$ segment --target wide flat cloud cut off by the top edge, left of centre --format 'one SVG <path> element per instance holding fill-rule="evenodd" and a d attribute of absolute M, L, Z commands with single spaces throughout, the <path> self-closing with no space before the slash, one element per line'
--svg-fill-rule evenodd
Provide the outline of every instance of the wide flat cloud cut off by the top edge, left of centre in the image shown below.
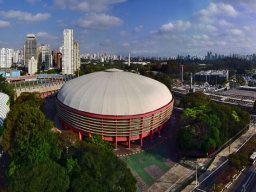
<path fill-rule="evenodd" d="M 116 3 L 126 2 L 127 0 L 54 0 L 53 8 L 64 9 L 69 7 L 78 12 L 102 12 L 106 11 Z"/>

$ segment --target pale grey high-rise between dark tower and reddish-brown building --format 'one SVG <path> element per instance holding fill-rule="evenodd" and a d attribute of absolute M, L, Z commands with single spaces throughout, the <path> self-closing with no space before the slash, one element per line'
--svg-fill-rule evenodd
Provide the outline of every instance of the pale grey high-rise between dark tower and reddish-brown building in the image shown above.
<path fill-rule="evenodd" d="M 41 45 L 38 50 L 39 52 L 39 65 L 44 68 L 44 70 L 48 70 L 51 67 L 51 52 L 50 45 Z"/>

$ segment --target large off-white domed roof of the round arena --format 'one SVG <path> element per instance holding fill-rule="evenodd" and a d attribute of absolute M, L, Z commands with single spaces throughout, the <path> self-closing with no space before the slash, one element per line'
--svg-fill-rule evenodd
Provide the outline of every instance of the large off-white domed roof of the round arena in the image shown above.
<path fill-rule="evenodd" d="M 152 112 L 172 100 L 162 83 L 142 75 L 109 69 L 80 76 L 64 84 L 58 100 L 76 110 L 130 116 Z"/>

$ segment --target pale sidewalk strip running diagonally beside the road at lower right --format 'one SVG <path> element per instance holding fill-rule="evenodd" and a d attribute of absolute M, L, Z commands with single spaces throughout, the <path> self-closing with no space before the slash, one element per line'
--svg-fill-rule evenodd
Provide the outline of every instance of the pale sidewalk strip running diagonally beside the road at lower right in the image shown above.
<path fill-rule="evenodd" d="M 254 129 L 254 127 L 251 127 L 246 134 L 243 134 L 240 138 L 238 138 L 235 142 L 233 142 L 230 146 L 230 153 L 234 153 L 236 152 L 240 146 L 242 146 L 242 144 L 244 144 L 245 140 L 246 140 L 246 136 L 247 138 L 252 136 L 253 134 L 255 134 L 256 129 Z M 220 153 L 218 153 L 214 159 L 214 161 L 212 162 L 212 164 L 210 165 L 210 167 L 206 170 L 206 172 L 204 174 L 202 174 L 199 178 L 198 178 L 198 183 L 200 183 L 202 180 L 204 180 L 204 178 L 206 178 L 209 174 L 211 174 L 211 172 L 213 172 L 214 170 L 216 170 L 216 168 L 218 166 L 220 166 L 224 161 L 226 161 L 228 159 L 228 155 L 229 155 L 229 147 L 225 148 L 224 150 L 222 150 Z M 190 185 L 188 185 L 184 190 L 182 190 L 182 192 L 190 192 L 193 190 L 193 188 L 196 186 L 196 181 L 193 181 Z"/>

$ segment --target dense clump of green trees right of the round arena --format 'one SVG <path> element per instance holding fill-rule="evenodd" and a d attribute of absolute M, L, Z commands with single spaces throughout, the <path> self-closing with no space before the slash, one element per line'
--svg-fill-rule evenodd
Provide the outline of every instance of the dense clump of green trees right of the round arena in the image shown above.
<path fill-rule="evenodd" d="M 178 146 L 183 150 L 208 152 L 220 147 L 235 136 L 249 122 L 250 115 L 240 108 L 218 105 L 195 92 L 182 99 L 182 112 Z"/>

